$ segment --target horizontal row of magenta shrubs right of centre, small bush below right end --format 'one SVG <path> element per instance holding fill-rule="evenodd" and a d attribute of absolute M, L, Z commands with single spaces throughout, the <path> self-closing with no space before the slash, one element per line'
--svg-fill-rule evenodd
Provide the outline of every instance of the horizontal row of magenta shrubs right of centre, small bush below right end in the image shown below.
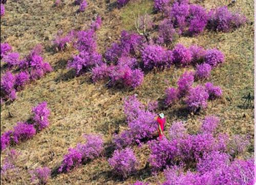
<path fill-rule="evenodd" d="M 159 45 L 147 45 L 142 50 L 141 58 L 143 67 L 147 70 L 154 67 L 168 68 L 173 64 L 197 65 L 197 77 L 200 79 L 207 78 L 211 68 L 217 67 L 225 60 L 222 52 L 216 48 L 205 50 L 197 45 L 186 48 L 182 44 L 177 44 L 173 50 L 166 50 Z"/>

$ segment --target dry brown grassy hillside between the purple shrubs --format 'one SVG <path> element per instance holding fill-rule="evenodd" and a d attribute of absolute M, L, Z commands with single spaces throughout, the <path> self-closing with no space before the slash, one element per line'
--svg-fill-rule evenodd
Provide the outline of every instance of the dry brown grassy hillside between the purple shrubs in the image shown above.
<path fill-rule="evenodd" d="M 67 3 L 61 7 L 53 7 L 53 1 L 14 1 L 10 0 L 6 6 L 6 15 L 1 18 L 1 42 L 7 41 L 14 50 L 25 55 L 37 43 L 45 47 L 44 58 L 53 66 L 54 71 L 47 74 L 18 92 L 18 99 L 1 108 L 1 133 L 11 129 L 17 121 L 25 121 L 31 115 L 31 107 L 38 102 L 47 101 L 52 113 L 51 125 L 37 134 L 33 139 L 14 148 L 23 154 L 19 157 L 20 173 L 29 184 L 28 169 L 37 166 L 57 167 L 69 147 L 82 141 L 83 133 L 100 133 L 105 143 L 109 143 L 116 128 L 125 129 L 122 112 L 122 98 L 134 93 L 142 102 L 161 99 L 167 85 L 175 85 L 178 76 L 187 69 L 172 68 L 163 72 L 153 71 L 144 78 L 141 87 L 134 91 L 113 90 L 103 84 L 92 84 L 89 75 L 74 77 L 66 69 L 67 60 L 75 50 L 55 53 L 51 49 L 51 39 L 59 29 L 68 32 L 71 29 L 87 28 L 92 17 L 98 13 L 103 17 L 103 26 L 97 31 L 99 51 L 115 41 L 122 29 L 133 30 L 132 12 L 144 13 L 152 11 L 152 1 L 138 1 L 135 5 L 129 3 L 118 10 L 111 8 L 105 1 L 88 0 L 89 8 L 76 14 L 78 6 Z M 72 1 L 71 1 L 72 2 Z M 113 5 L 114 1 L 110 4 Z M 220 5 L 227 5 L 227 1 L 198 1 L 207 9 Z M 197 3 L 198 3 L 197 2 Z M 181 37 L 178 42 L 185 45 L 199 44 L 205 48 L 217 47 L 221 49 L 226 62 L 212 71 L 211 82 L 223 89 L 223 98 L 211 101 L 208 109 L 199 115 L 185 114 L 182 107 L 176 105 L 164 112 L 167 116 L 167 128 L 176 120 L 185 122 L 190 133 L 195 133 L 199 126 L 199 119 L 207 114 L 215 114 L 221 118 L 219 131 L 232 134 L 249 134 L 253 137 L 253 110 L 242 109 L 243 96 L 253 94 L 253 1 L 238 1 L 232 10 L 240 8 L 248 18 L 248 24 L 232 33 L 205 32 L 196 38 Z M 154 15 L 159 17 L 159 15 Z M 8 116 L 11 112 L 13 117 Z M 126 179 L 118 180 L 112 176 L 106 157 L 100 157 L 87 165 L 83 165 L 69 174 L 60 174 L 50 179 L 49 184 L 129 184 L 136 179 L 156 184 L 163 181 L 163 173 L 153 176 L 147 169 L 143 169 L 149 154 L 148 148 L 134 147 L 141 163 L 139 171 Z M 248 151 L 240 157 L 252 155 L 253 139 Z M 5 152 L 1 156 L 1 160 Z M 3 184 L 23 184 L 18 177 Z"/>

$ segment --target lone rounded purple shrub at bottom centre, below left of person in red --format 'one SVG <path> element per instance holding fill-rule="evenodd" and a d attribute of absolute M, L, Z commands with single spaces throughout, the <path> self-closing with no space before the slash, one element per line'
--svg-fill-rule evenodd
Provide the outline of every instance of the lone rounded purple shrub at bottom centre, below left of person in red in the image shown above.
<path fill-rule="evenodd" d="M 137 158 L 131 148 L 115 150 L 108 162 L 113 172 L 124 178 L 132 174 L 138 166 Z"/>

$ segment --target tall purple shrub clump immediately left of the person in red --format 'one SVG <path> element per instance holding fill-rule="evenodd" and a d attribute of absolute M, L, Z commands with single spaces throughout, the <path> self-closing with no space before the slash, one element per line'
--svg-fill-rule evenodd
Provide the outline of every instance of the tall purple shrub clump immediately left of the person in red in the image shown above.
<path fill-rule="evenodd" d="M 157 130 L 157 122 L 154 120 L 156 113 L 145 108 L 135 95 L 129 96 L 124 101 L 124 114 L 128 123 L 128 129 L 119 135 L 114 135 L 113 142 L 120 149 L 132 144 L 140 144 L 142 140 L 150 139 Z M 156 105 L 154 105 L 156 107 Z"/>

